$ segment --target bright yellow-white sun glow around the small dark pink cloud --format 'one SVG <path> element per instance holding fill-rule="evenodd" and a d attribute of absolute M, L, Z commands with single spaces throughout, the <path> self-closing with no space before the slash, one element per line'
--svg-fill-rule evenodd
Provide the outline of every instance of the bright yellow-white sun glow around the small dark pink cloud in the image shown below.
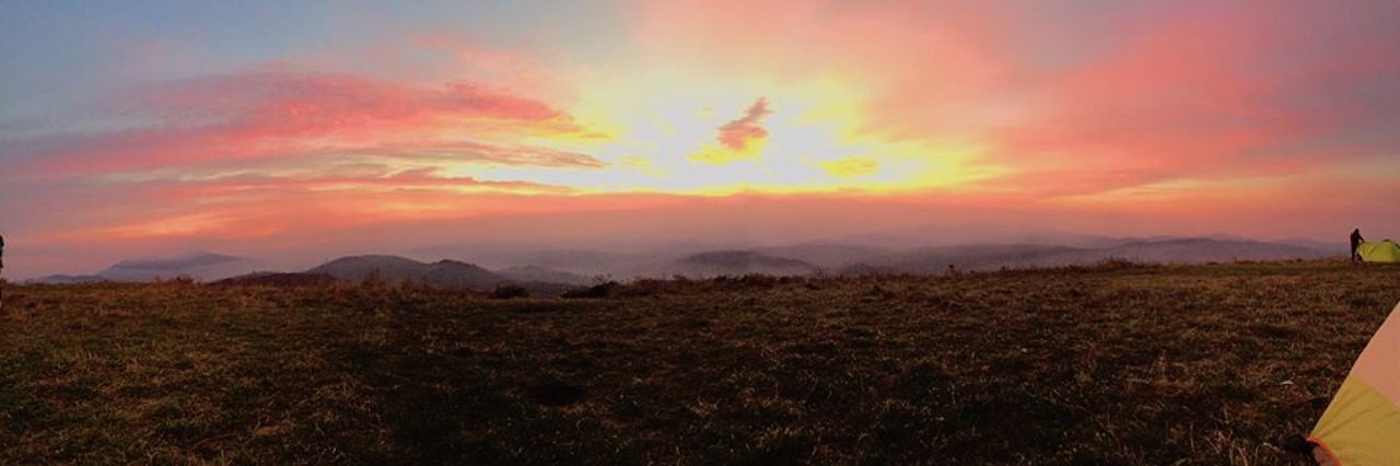
<path fill-rule="evenodd" d="M 528 172 L 580 193 L 728 195 L 918 192 L 1001 172 L 974 164 L 977 143 L 868 130 L 869 97 L 837 77 L 652 76 L 627 85 L 585 84 L 570 113 L 606 137 L 560 148 L 595 154 L 609 169 L 503 167 L 458 175 L 512 179 Z"/>

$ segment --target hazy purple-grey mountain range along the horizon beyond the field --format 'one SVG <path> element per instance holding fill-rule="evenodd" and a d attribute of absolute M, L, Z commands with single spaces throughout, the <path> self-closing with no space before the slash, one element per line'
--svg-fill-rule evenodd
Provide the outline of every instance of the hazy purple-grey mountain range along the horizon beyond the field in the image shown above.
<path fill-rule="evenodd" d="M 514 255 L 482 255 L 494 270 L 477 263 L 442 259 L 419 262 L 392 255 L 339 257 L 302 273 L 269 273 L 260 260 L 193 252 L 175 257 L 123 260 L 88 276 L 56 274 L 31 283 L 151 281 L 192 277 L 200 281 L 251 284 L 309 284 L 328 280 L 414 283 L 440 288 L 490 290 L 519 284 L 536 292 L 560 292 L 589 285 L 601 278 L 714 277 L 714 276 L 806 276 L 860 273 L 942 273 L 1092 264 L 1106 259 L 1144 263 L 1201 263 L 1235 260 L 1281 260 L 1340 256 L 1330 245 L 1260 242 L 1240 238 L 1089 238 L 1075 245 L 973 243 L 914 249 L 892 249 L 854 243 L 802 243 L 713 250 L 522 250 Z"/>

